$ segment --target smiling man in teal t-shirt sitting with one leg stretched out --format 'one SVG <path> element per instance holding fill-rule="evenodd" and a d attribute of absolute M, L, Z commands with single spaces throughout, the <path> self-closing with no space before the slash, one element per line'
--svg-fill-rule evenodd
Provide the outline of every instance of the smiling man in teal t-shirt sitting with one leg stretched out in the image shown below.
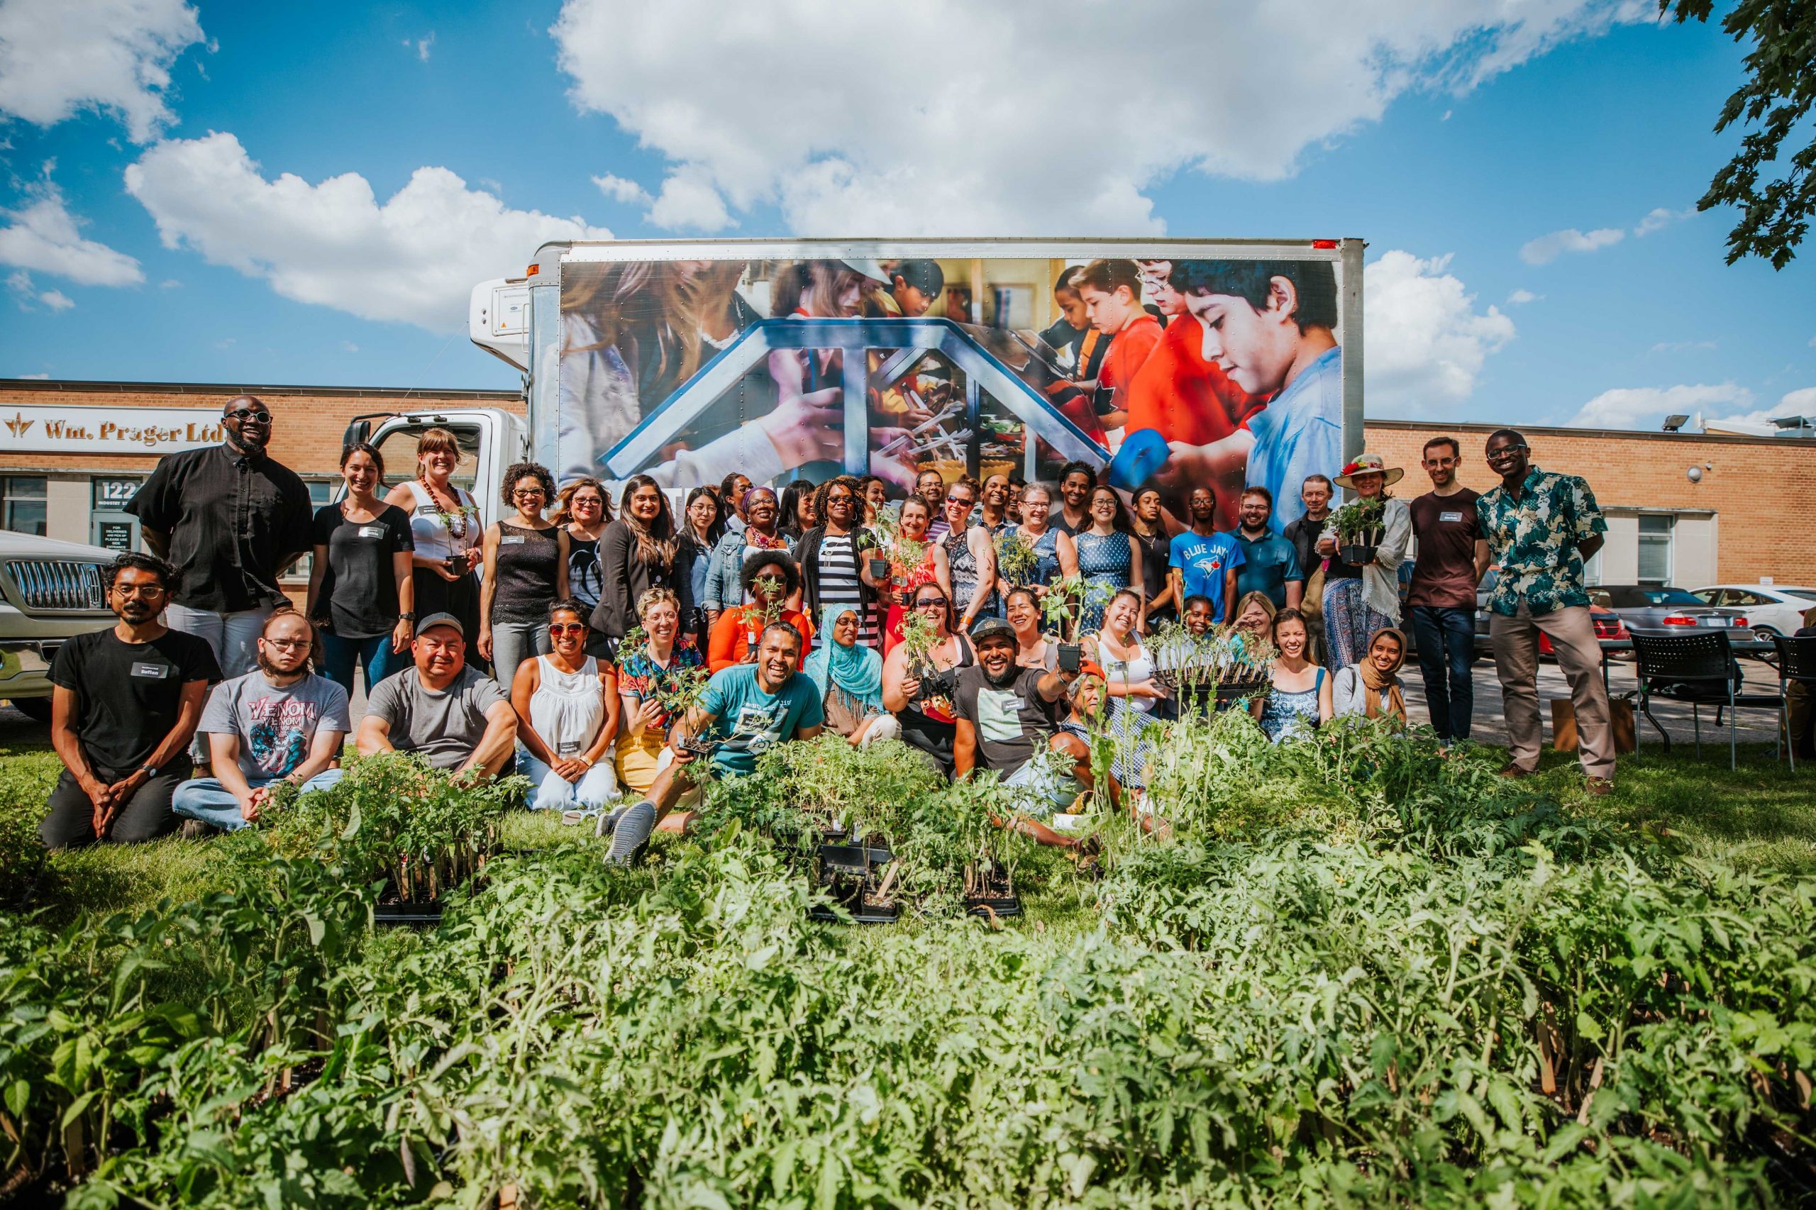
<path fill-rule="evenodd" d="M 699 705 L 676 723 L 668 736 L 670 761 L 656 774 L 650 794 L 641 803 L 599 819 L 599 834 L 612 834 L 607 861 L 630 865 L 656 821 L 692 790 L 701 774 L 690 741 L 714 745 L 712 774 L 746 778 L 757 770 L 757 756 L 786 739 L 812 739 L 821 732 L 824 709 L 819 690 L 801 667 L 801 632 L 786 621 L 774 621 L 757 641 L 757 661 L 721 669 L 706 681 Z M 690 812 L 663 819 L 663 828 L 681 830 Z"/>

